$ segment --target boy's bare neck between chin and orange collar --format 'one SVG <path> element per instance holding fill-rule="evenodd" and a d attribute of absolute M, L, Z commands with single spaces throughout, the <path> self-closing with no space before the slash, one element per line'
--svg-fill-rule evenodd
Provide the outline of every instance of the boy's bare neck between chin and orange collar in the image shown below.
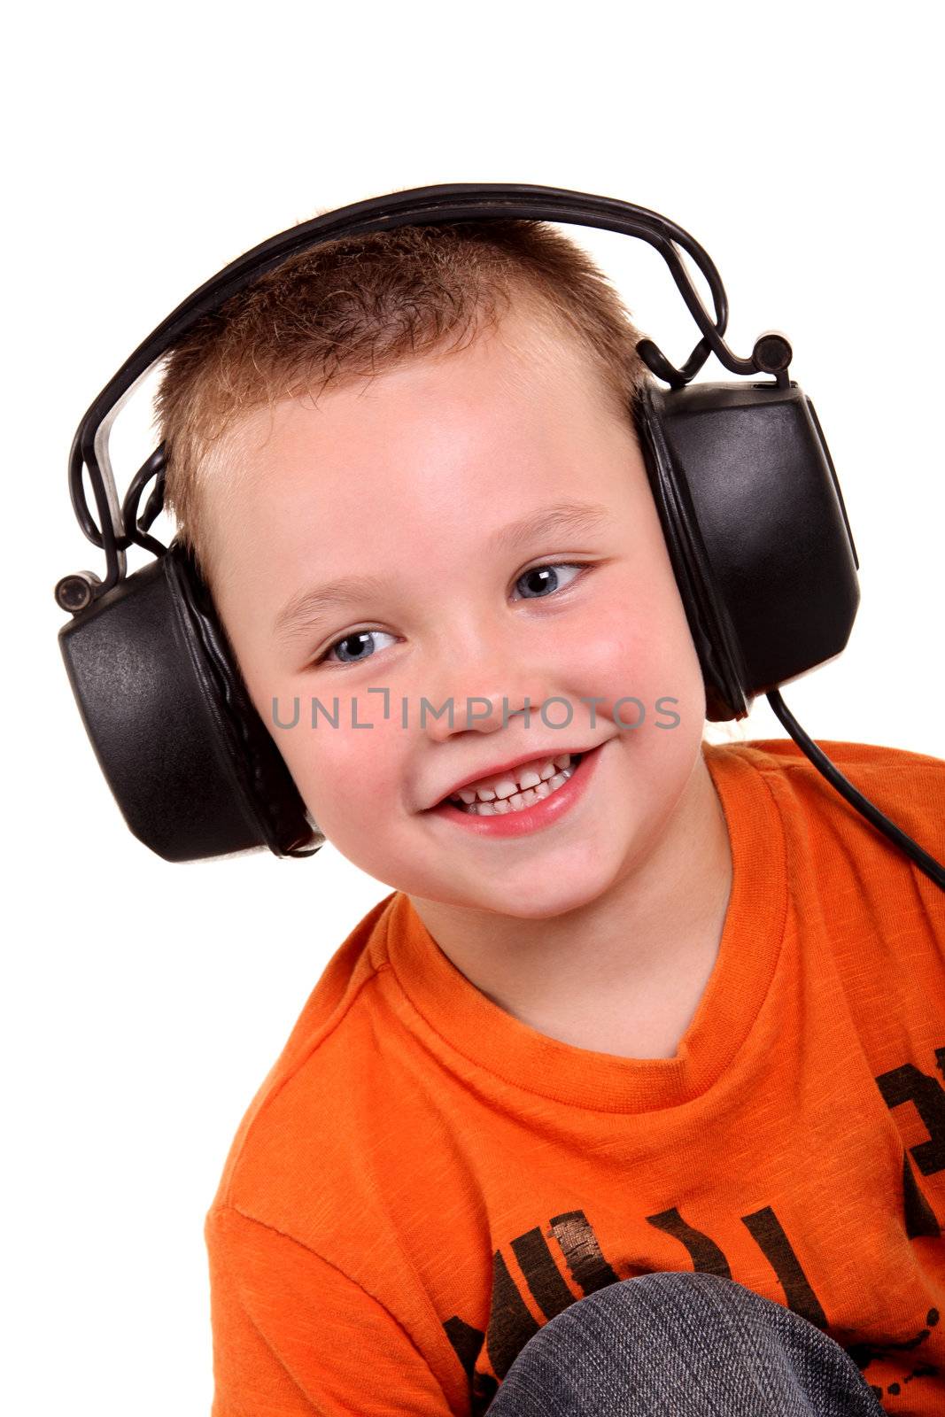
<path fill-rule="evenodd" d="M 598 1053 L 673 1057 L 718 955 L 731 873 L 700 752 L 659 839 L 587 905 L 519 920 L 411 903 L 460 973 L 530 1027 Z"/>

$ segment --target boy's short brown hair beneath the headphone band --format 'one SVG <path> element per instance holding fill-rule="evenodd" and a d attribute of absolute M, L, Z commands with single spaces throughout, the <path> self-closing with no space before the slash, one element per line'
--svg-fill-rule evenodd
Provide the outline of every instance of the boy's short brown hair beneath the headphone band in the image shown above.
<path fill-rule="evenodd" d="M 289 256 L 203 316 L 167 354 L 156 397 L 164 503 L 213 585 L 214 482 L 232 487 L 224 434 L 282 398 L 341 387 L 429 354 L 468 347 L 524 302 L 553 337 L 577 339 L 602 393 L 632 425 L 649 373 L 639 332 L 588 254 L 541 221 L 405 225 L 343 237 Z"/>

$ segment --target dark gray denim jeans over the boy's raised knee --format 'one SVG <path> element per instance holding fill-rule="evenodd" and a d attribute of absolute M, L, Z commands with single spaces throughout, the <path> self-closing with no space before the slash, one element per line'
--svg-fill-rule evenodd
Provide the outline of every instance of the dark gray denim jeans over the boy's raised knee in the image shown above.
<path fill-rule="evenodd" d="M 703 1271 L 588 1294 L 517 1355 L 489 1417 L 881 1417 L 839 1343 Z"/>

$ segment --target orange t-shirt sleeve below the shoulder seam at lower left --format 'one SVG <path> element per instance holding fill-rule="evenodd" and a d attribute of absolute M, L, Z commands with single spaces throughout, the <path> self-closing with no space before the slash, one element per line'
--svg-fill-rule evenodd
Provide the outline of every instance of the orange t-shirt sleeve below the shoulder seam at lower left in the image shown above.
<path fill-rule="evenodd" d="M 205 1237 L 211 1417 L 451 1417 L 402 1326 L 334 1265 L 230 1206 Z"/>

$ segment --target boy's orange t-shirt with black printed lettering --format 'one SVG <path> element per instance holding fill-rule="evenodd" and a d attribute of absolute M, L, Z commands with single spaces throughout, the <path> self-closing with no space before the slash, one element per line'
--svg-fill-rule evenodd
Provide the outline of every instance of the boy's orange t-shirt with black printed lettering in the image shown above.
<path fill-rule="evenodd" d="M 944 761 L 823 747 L 945 859 Z M 674 1057 L 520 1023 L 401 891 L 332 958 L 207 1216 L 214 1417 L 472 1417 L 548 1318 L 656 1270 L 945 1413 L 945 894 L 791 740 L 703 752 L 732 894 Z"/>

